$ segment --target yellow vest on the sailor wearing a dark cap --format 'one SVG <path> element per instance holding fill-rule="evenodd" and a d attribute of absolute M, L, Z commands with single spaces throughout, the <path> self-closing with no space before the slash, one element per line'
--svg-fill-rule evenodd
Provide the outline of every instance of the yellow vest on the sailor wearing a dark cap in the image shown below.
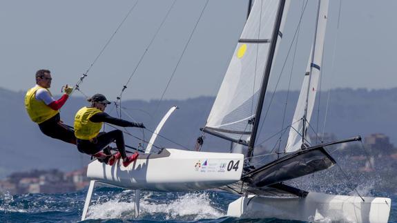
<path fill-rule="evenodd" d="M 97 137 L 103 122 L 91 122 L 90 117 L 102 111 L 98 108 L 81 108 L 75 115 L 75 136 L 77 139 L 93 139 Z"/>

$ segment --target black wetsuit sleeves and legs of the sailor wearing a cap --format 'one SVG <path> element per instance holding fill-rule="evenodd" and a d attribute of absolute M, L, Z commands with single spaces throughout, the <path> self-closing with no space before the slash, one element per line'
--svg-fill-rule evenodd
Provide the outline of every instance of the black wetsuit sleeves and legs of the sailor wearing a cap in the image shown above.
<path fill-rule="evenodd" d="M 109 124 L 114 124 L 116 126 L 122 127 L 140 127 L 139 124 L 135 122 L 128 122 L 123 119 L 117 119 L 111 117 L 107 113 L 97 113 L 90 117 L 91 122 L 106 122 Z M 89 155 L 94 155 L 102 151 L 108 144 L 116 141 L 117 148 L 122 154 L 122 157 L 127 157 L 126 148 L 124 145 L 124 136 L 121 130 L 112 130 L 108 133 L 99 133 L 94 139 L 77 139 L 77 148 L 81 153 L 86 153 Z M 108 152 L 108 151 L 104 151 Z"/>

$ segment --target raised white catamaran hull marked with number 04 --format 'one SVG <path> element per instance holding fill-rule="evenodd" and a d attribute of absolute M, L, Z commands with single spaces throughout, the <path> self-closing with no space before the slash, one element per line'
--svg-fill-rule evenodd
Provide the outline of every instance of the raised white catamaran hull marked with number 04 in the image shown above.
<path fill-rule="evenodd" d="M 164 149 L 142 154 L 127 167 L 97 160 L 88 165 L 87 177 L 105 184 L 149 191 L 201 191 L 240 180 L 244 155 Z"/>

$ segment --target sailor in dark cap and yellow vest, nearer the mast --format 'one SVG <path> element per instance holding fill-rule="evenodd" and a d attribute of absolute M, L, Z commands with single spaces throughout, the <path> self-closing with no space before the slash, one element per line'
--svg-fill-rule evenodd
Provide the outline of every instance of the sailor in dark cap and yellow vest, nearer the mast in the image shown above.
<path fill-rule="evenodd" d="M 99 162 L 105 162 L 110 166 L 120 157 L 122 157 L 123 166 L 125 167 L 134 162 L 139 154 L 136 152 L 127 157 L 124 136 L 121 130 L 112 130 L 108 133 L 99 133 L 99 131 L 104 122 L 116 126 L 137 128 L 145 128 L 144 124 L 128 122 L 104 113 L 106 106 L 110 104 L 110 101 L 104 95 L 93 95 L 88 101 L 91 106 L 81 108 L 75 115 L 75 136 L 79 151 L 97 157 Z M 111 155 L 109 148 L 106 146 L 114 141 L 119 152 Z"/>

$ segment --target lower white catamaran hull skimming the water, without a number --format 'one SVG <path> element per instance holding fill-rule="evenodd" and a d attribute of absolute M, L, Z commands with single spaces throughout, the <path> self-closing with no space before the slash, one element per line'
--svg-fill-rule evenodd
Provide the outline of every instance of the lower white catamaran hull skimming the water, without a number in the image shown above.
<path fill-rule="evenodd" d="M 233 217 L 282 220 L 331 220 L 343 222 L 387 222 L 391 200 L 385 197 L 360 197 L 308 193 L 306 197 L 266 197 L 249 195 L 229 204 Z"/>

